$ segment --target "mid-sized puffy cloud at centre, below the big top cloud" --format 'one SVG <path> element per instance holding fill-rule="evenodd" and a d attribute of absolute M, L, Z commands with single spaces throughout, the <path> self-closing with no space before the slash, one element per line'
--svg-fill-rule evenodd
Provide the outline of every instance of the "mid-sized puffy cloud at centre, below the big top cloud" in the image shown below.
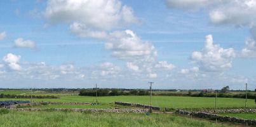
<path fill-rule="evenodd" d="M 112 50 L 112 56 L 121 60 L 154 61 L 157 52 L 151 43 L 143 42 L 133 31 L 115 31 L 107 37 L 105 50 Z"/>

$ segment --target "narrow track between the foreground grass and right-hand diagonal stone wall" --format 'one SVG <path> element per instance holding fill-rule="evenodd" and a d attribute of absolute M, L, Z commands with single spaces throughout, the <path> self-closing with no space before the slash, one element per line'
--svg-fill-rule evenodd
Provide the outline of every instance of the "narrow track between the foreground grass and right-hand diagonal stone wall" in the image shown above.
<path fill-rule="evenodd" d="M 156 113 L 156 114 L 163 114 L 164 112 L 153 112 L 153 113 Z M 187 117 L 187 118 L 191 118 L 191 119 L 197 119 L 197 120 L 201 120 L 201 121 L 208 121 L 208 122 L 211 122 L 211 123 L 215 123 L 215 121 L 212 121 L 210 119 L 203 119 L 201 117 L 193 117 L 193 116 L 185 116 L 185 115 L 178 115 L 178 114 L 174 114 L 173 112 L 165 112 L 165 114 L 173 114 L 173 115 L 177 115 L 177 116 L 180 116 L 180 117 Z M 217 121 L 217 123 L 220 123 L 220 124 L 227 124 L 227 125 L 232 125 L 232 126 L 245 126 L 243 124 L 236 124 L 236 123 L 229 123 L 229 122 L 222 122 L 222 121 Z"/>

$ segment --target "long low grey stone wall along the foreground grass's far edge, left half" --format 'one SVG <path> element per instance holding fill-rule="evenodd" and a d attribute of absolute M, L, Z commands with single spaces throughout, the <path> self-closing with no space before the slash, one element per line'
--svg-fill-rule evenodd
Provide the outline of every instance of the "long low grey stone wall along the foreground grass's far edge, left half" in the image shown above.
<path fill-rule="evenodd" d="M 31 111 L 30 108 L 20 108 L 16 109 L 18 111 Z M 91 112 L 117 112 L 117 113 L 124 113 L 124 112 L 135 112 L 135 113 L 145 113 L 149 112 L 149 109 L 62 109 L 62 108 L 55 108 L 55 109 L 33 109 L 33 111 L 48 111 L 48 110 L 65 110 L 65 111 L 72 111 L 72 112 L 83 112 L 83 111 L 91 111 Z"/>

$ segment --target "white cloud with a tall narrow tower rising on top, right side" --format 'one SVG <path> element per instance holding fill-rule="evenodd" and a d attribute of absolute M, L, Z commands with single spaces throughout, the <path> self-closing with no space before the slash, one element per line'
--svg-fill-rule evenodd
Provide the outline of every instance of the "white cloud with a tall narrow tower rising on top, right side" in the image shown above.
<path fill-rule="evenodd" d="M 212 35 L 208 35 L 201 51 L 194 51 L 191 60 L 199 65 L 200 70 L 222 71 L 232 67 L 235 55 L 234 49 L 224 49 L 219 44 L 213 44 Z"/>

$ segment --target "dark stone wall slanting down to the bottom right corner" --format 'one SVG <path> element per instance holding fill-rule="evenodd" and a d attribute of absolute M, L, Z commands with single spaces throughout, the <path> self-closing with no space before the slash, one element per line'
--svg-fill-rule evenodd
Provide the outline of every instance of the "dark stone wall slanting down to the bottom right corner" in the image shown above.
<path fill-rule="evenodd" d="M 229 109 L 231 110 L 231 109 Z M 238 111 L 238 110 L 235 110 Z M 226 121 L 231 123 L 241 123 L 241 124 L 248 124 L 252 126 L 256 126 L 256 119 L 241 119 L 238 117 L 230 117 L 230 116 L 219 116 L 217 114 L 210 114 L 206 112 L 195 112 L 195 111 L 187 111 L 187 110 L 176 110 L 178 114 L 182 115 L 189 115 L 189 116 L 195 116 L 195 117 L 205 117 L 212 120 L 219 120 L 219 121 Z"/>

